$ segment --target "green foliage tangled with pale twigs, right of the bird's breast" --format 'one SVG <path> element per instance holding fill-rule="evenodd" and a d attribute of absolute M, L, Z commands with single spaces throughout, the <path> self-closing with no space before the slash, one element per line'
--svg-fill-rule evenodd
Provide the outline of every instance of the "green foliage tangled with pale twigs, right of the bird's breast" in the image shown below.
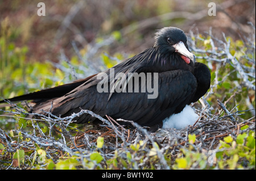
<path fill-rule="evenodd" d="M 208 65 L 211 71 L 211 85 L 214 94 L 210 94 L 207 99 L 210 106 L 216 108 L 216 100 L 220 99 L 222 102 L 228 101 L 226 104 L 228 110 L 233 110 L 234 107 L 237 107 L 235 109 L 236 111 L 249 110 L 251 107 L 255 108 L 255 91 L 245 85 L 240 72 L 236 71 L 234 65 L 230 63 L 231 60 L 226 58 L 225 47 L 223 47 L 223 45 L 218 45 L 217 47 L 216 44 L 218 42 L 215 44 L 216 47 L 213 47 L 212 43 L 210 43 L 213 39 L 211 39 L 210 36 L 199 36 L 200 38 L 197 38 L 197 40 L 196 37 L 192 37 L 192 40 L 196 40 L 197 48 L 201 48 L 205 50 L 205 52 L 208 51 L 208 53 L 195 54 L 199 57 L 207 57 L 197 58 L 197 61 Z M 248 76 L 247 81 L 253 82 L 255 86 L 255 77 L 253 75 L 255 72 L 253 73 L 253 71 L 251 71 L 255 69 L 255 63 L 253 63 L 253 61 L 255 62 L 255 43 L 250 45 L 242 40 L 233 41 L 230 37 L 226 37 L 224 41 L 230 41 L 229 52 L 245 69 L 245 74 L 251 74 Z M 212 56 L 212 52 L 218 53 L 218 57 Z M 212 57 L 216 57 L 217 60 L 225 61 L 221 63 L 209 61 Z M 250 108 L 249 105 L 251 105 Z M 241 115 L 242 119 L 250 119 L 252 116 L 253 114 L 250 111 L 245 111 Z"/>

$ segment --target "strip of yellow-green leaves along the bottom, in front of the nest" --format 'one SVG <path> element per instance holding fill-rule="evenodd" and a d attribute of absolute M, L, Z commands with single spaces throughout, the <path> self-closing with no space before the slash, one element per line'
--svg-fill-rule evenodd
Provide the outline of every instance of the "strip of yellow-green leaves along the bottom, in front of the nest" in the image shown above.
<path fill-rule="evenodd" d="M 243 128 L 243 127 L 242 127 Z M 188 134 L 188 146 L 179 148 L 175 159 L 171 158 L 171 149 L 165 151 L 163 157 L 171 169 L 255 169 L 255 132 L 243 128 L 243 133 L 226 136 L 218 141 L 217 148 L 205 150 L 200 148 L 195 134 Z M 20 133 L 10 132 L 16 142 L 23 142 Z M 31 141 L 31 140 L 26 140 Z M 7 153 L 7 145 L 0 144 L 0 153 L 5 159 L 16 161 L 16 166 L 22 168 L 29 165 L 30 169 L 157 169 L 160 151 L 158 144 L 138 140 L 131 145 L 123 145 L 122 149 L 115 150 L 114 156 L 106 158 L 102 155 L 104 138 L 97 138 L 97 146 L 92 153 L 83 156 L 65 154 L 57 160 L 53 153 L 48 157 L 47 147 L 35 144 L 36 151 L 17 149 L 14 153 Z M 125 151 L 123 151 L 125 150 Z M 56 154 L 58 154 L 56 152 Z M 11 156 L 11 157 L 10 157 Z M 10 158 L 8 158 L 10 157 Z M 139 165 L 143 165 L 140 167 Z"/>

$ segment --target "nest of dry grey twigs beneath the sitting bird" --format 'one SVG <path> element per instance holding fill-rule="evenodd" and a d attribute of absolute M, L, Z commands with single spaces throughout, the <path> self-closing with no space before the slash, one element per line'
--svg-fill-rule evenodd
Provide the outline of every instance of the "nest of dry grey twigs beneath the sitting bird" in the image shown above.
<path fill-rule="evenodd" d="M 137 152 L 137 157 L 131 162 L 136 164 L 131 164 L 128 168 L 149 169 L 150 165 L 152 167 L 153 164 L 155 169 L 171 169 L 164 155 L 169 155 L 170 162 L 175 162 L 177 155 L 181 153 L 181 148 L 193 145 L 199 152 L 209 151 L 217 149 L 219 141 L 225 136 L 236 137 L 242 132 L 255 130 L 255 117 L 241 121 L 240 112 L 230 113 L 220 101 L 218 101 L 218 105 L 220 110 L 214 115 L 208 113 L 208 108 L 196 109 L 194 105 L 196 112 L 199 114 L 199 119 L 194 125 L 180 130 L 159 129 L 155 133 L 149 133 L 147 128 L 142 128 L 133 121 L 129 121 L 132 128 L 125 127 L 119 123 L 123 123 L 126 120 L 113 120 L 109 116 L 107 116 L 108 120 L 106 120 L 87 110 L 81 110 L 79 113 L 74 113 L 72 116 L 64 118 L 42 116 L 42 120 L 31 121 L 32 128 L 20 128 L 20 130 L 14 131 L 13 137 L 10 137 L 9 134 L 0 129 L 0 142 L 6 146 L 5 154 L 0 155 L 1 162 L 5 163 L 5 165 L 9 163 L 8 169 L 15 169 L 14 166 L 16 165 L 14 160 L 11 159 L 10 153 L 14 153 L 17 149 L 23 149 L 25 152 L 36 152 L 37 146 L 39 146 L 46 151 L 46 158 L 55 163 L 67 155 L 76 155 L 80 158 L 80 167 L 85 169 L 86 164 L 82 163 L 84 162 L 83 160 L 89 159 L 90 154 L 95 151 L 102 155 L 104 161 L 108 161 L 117 157 L 117 154 L 118 157 L 127 159 L 127 153 L 134 150 Z M 17 107 L 16 112 L 9 113 L 15 113 L 16 115 L 18 113 L 26 114 Z M 70 124 L 73 117 L 82 113 L 89 113 L 97 117 L 103 124 L 84 124 L 79 128 L 72 127 Z M 49 131 L 45 133 L 39 123 L 47 125 Z M 249 128 L 241 131 L 240 128 L 245 125 L 248 125 Z M 56 139 L 57 134 L 60 134 L 61 138 Z M 196 136 L 193 144 L 189 142 L 189 134 L 195 134 Z M 22 138 L 14 139 L 15 135 Z M 98 137 L 104 138 L 102 148 L 97 146 Z M 138 144 L 139 147 L 137 149 L 136 145 L 138 146 Z M 133 146 L 135 146 L 134 149 Z M 150 160 L 152 155 L 155 156 L 154 162 Z M 32 160 L 33 157 L 34 154 L 32 153 L 30 157 L 26 156 L 26 159 Z M 139 159 L 143 159 L 143 161 L 138 164 Z M 94 165 L 94 167 L 98 166 L 101 169 L 106 169 L 106 162 L 104 161 Z M 5 165 L 2 165 L 1 169 L 7 169 Z M 31 168 L 30 165 L 23 165 L 23 169 L 29 168 Z M 122 168 L 114 167 L 114 169 Z"/>

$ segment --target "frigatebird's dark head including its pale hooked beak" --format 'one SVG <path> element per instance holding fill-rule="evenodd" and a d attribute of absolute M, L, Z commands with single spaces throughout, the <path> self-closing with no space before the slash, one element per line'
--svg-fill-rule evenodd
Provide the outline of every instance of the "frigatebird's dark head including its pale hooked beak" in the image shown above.
<path fill-rule="evenodd" d="M 179 54 L 179 56 L 190 64 L 195 64 L 195 56 L 188 49 L 187 37 L 185 33 L 176 27 L 165 27 L 156 32 L 155 45 L 161 54 Z"/>

